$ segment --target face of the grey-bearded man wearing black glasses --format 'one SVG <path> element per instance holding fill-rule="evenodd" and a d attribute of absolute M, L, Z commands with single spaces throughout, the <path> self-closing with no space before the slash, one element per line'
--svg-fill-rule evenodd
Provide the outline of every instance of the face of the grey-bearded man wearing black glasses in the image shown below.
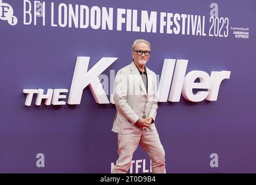
<path fill-rule="evenodd" d="M 148 62 L 150 55 L 145 56 L 145 54 L 142 53 L 142 55 L 139 56 L 136 53 L 136 51 L 150 51 L 149 46 L 144 42 L 139 42 L 139 43 L 137 43 L 137 45 L 135 46 L 134 51 L 133 51 L 133 60 L 134 60 L 135 64 L 145 65 Z"/>

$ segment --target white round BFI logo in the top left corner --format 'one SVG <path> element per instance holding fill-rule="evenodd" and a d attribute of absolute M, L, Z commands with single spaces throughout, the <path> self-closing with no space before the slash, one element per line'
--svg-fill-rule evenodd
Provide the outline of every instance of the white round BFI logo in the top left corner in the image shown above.
<path fill-rule="evenodd" d="M 3 3 L 0 0 L 0 19 L 8 21 L 10 25 L 16 25 L 18 23 L 17 17 L 13 16 L 13 8 L 8 3 Z"/>

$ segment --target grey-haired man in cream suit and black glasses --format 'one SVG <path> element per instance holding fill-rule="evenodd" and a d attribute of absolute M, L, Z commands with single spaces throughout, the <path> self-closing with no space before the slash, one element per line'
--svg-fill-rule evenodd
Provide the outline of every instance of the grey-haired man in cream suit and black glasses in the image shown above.
<path fill-rule="evenodd" d="M 150 52 L 147 40 L 135 40 L 131 47 L 133 61 L 116 73 L 112 131 L 118 133 L 119 158 L 112 173 L 127 173 L 139 144 L 152 160 L 152 172 L 166 173 L 165 153 L 155 127 L 156 75 L 145 66 Z"/>

